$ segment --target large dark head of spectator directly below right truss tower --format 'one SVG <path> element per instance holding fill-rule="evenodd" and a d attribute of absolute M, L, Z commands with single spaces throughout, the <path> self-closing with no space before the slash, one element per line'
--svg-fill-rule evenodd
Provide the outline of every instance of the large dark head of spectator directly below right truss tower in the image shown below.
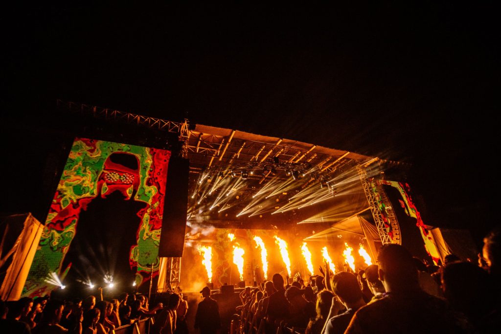
<path fill-rule="evenodd" d="M 390 243 L 378 254 L 379 278 L 385 290 L 419 289 L 417 269 L 410 252 L 403 246 Z"/>

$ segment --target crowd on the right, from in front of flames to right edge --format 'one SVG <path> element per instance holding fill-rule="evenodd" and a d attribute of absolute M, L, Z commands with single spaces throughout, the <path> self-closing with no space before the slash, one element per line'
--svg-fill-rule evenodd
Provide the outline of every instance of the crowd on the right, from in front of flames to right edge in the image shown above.
<path fill-rule="evenodd" d="M 384 245 L 377 265 L 323 275 L 305 284 L 279 273 L 240 293 L 240 334 L 491 333 L 500 324 L 499 238 L 483 240 L 478 262 L 448 254 L 441 265 L 425 262 L 403 246 Z M 230 333 L 233 334 L 233 333 Z"/>

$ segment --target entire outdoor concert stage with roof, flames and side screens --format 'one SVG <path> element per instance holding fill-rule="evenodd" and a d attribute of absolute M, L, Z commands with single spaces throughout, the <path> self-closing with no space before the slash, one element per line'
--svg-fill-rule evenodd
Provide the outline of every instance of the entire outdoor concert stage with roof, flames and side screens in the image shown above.
<path fill-rule="evenodd" d="M 26 282 L 4 281 L 4 296 L 63 286 L 82 295 L 97 286 L 110 295 L 199 291 L 275 272 L 307 280 L 328 258 L 337 270 L 363 269 L 389 242 L 435 263 L 448 251 L 420 215 L 405 164 L 74 103 L 59 109 L 85 136 L 61 146 L 33 260 L 9 269 Z"/>

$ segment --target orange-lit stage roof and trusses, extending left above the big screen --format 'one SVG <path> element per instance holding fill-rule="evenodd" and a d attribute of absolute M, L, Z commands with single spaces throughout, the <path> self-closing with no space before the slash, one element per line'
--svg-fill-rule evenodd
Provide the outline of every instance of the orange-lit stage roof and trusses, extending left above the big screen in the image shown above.
<path fill-rule="evenodd" d="M 231 209 L 234 220 L 234 213 L 245 211 L 245 208 L 255 201 L 254 196 L 257 194 L 263 198 L 262 203 L 255 206 L 263 206 L 263 209 L 260 211 L 254 208 L 248 217 L 261 212 L 289 212 L 294 215 L 295 210 L 280 210 L 287 207 L 288 202 L 298 198 L 300 201 L 310 201 L 310 205 L 313 205 L 329 197 L 327 191 L 330 191 L 332 196 L 336 196 L 338 191 L 343 193 L 343 187 L 345 192 L 353 191 L 353 182 L 359 183 L 360 193 L 368 191 L 368 188 L 362 190 L 364 182 L 360 184 L 357 169 L 367 169 L 369 166 L 372 168 L 376 162 L 384 162 L 377 157 L 296 140 L 200 124 L 192 126 L 188 120 L 171 122 L 60 100 L 58 106 L 97 119 L 176 133 L 179 141 L 183 143 L 180 155 L 190 162 L 189 192 L 192 194 L 190 198 L 193 198 L 189 204 L 190 215 L 208 208 L 224 211 Z M 339 186 L 338 183 L 350 184 L 347 187 Z M 270 194 L 272 197 L 269 198 Z M 217 197 L 224 195 L 228 196 L 228 200 Z M 229 200 L 230 197 L 233 201 Z M 275 199 L 277 202 L 271 201 Z M 359 202 L 356 206 L 367 207 L 365 199 L 363 203 L 360 199 L 357 201 Z M 205 222 L 230 219 L 229 215 L 217 218 L 207 212 L 203 214 L 202 221 Z M 279 216 L 285 215 L 274 217 Z M 336 221 L 343 218 L 346 218 L 346 215 L 336 218 Z"/>

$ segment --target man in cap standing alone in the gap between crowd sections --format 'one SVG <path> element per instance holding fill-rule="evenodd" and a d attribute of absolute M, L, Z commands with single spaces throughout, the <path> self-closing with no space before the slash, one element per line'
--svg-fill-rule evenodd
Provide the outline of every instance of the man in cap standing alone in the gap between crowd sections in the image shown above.
<path fill-rule="evenodd" d="M 198 303 L 194 327 L 200 329 L 200 334 L 215 334 L 221 327 L 219 306 L 217 301 L 210 297 L 208 286 L 205 286 L 200 293 L 204 299 Z"/>

